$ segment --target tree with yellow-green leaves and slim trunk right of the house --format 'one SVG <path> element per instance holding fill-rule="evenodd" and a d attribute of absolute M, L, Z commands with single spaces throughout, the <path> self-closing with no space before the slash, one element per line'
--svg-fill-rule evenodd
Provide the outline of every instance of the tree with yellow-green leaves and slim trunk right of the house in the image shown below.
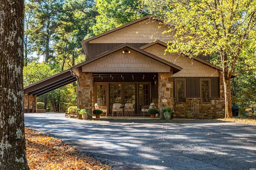
<path fill-rule="evenodd" d="M 226 115 L 232 117 L 230 79 L 256 68 L 256 1 L 145 0 L 144 10 L 159 16 L 174 38 L 166 52 L 189 57 L 210 55 L 223 68 Z"/>

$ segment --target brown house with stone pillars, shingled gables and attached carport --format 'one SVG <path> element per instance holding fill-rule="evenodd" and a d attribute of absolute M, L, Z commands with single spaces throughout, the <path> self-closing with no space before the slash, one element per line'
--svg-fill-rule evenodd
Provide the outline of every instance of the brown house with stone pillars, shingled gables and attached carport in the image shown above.
<path fill-rule="evenodd" d="M 111 113 L 114 103 L 133 103 L 135 115 L 140 115 L 142 106 L 154 102 L 159 110 L 174 108 L 175 117 L 193 117 L 196 99 L 200 112 L 196 117 L 224 117 L 222 68 L 204 56 L 164 55 L 166 43 L 173 38 L 172 33 L 162 34 L 167 29 L 161 20 L 146 16 L 82 41 L 86 61 L 65 72 L 70 81 L 74 76 L 78 80 L 79 108 L 92 113 L 98 103 Z M 61 85 L 60 75 L 49 78 L 52 88 L 41 91 L 56 88 L 56 82 Z M 32 87 L 24 88 L 25 109 L 36 95 L 37 88 L 32 92 Z"/>

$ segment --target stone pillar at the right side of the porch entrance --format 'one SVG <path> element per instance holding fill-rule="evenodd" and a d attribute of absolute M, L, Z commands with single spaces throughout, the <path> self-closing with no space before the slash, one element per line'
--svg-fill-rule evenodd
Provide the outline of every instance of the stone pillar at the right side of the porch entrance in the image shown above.
<path fill-rule="evenodd" d="M 173 108 L 173 78 L 170 73 L 158 73 L 158 110 L 162 107 Z"/>

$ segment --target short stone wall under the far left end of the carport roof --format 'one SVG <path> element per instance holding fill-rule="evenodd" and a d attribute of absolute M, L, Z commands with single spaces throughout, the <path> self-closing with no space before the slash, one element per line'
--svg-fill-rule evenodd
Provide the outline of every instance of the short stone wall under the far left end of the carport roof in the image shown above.
<path fill-rule="evenodd" d="M 24 113 L 36 113 L 36 103 L 36 96 L 24 94 Z"/>

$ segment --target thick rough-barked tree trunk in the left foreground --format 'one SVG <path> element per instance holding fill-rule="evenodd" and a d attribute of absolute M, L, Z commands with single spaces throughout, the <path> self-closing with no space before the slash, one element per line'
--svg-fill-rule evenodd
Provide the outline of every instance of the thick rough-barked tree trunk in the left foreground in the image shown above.
<path fill-rule="evenodd" d="M 24 0 L 0 0 L 0 169 L 29 170 L 24 135 Z"/>

